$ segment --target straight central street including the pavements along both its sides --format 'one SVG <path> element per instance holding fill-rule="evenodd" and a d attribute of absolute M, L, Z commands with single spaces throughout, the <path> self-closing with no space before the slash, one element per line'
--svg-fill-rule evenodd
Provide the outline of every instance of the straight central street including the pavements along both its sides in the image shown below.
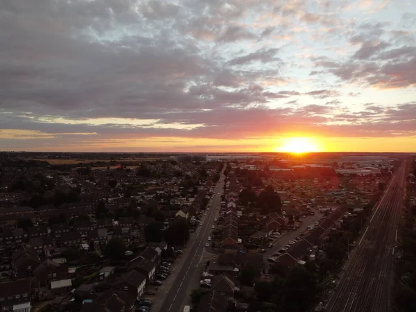
<path fill-rule="evenodd" d="M 171 275 L 164 281 L 162 288 L 159 288 L 159 295 L 155 297 L 152 311 L 170 312 L 182 311 L 185 304 L 189 304 L 189 290 L 194 283 L 194 278 L 200 274 L 200 261 L 204 253 L 205 243 L 208 236 L 211 236 L 211 226 L 214 225 L 214 218 L 218 214 L 216 209 L 220 205 L 221 194 L 223 193 L 225 180 L 225 166 L 220 173 L 220 180 L 214 187 L 214 195 L 207 216 L 203 216 L 202 226 L 191 236 L 180 259 L 175 263 Z"/>

